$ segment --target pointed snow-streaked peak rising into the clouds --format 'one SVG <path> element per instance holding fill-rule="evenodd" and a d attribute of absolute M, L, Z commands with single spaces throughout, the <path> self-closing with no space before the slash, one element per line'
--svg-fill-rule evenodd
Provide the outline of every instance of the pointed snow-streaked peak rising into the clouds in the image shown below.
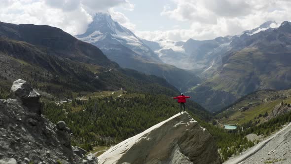
<path fill-rule="evenodd" d="M 107 13 L 96 13 L 87 31 L 76 38 L 92 43 L 102 49 L 114 49 L 125 46 L 132 50 L 134 58 L 137 56 L 149 62 L 158 62 L 159 57 L 141 41 L 133 32 L 112 20 Z"/>

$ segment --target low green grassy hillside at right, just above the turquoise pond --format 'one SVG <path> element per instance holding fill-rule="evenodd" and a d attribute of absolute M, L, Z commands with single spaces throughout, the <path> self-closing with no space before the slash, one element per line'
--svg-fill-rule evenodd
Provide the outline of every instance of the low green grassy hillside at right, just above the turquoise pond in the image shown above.
<path fill-rule="evenodd" d="M 282 101 L 291 103 L 291 90 L 261 90 L 242 97 L 216 115 L 219 123 L 264 122 L 264 114 L 271 114 L 274 107 Z M 247 107 L 247 108 L 246 108 Z M 245 109 L 243 109 L 245 108 Z M 260 116 L 261 115 L 261 116 Z M 260 117 L 259 117 L 260 116 Z"/>

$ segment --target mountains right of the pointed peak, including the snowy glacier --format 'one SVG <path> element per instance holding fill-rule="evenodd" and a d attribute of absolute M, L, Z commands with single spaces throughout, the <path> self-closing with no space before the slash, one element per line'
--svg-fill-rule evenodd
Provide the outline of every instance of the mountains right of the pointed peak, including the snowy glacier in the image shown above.
<path fill-rule="evenodd" d="M 159 47 L 162 61 L 195 72 L 203 82 L 188 94 L 210 111 L 218 111 L 239 97 L 260 89 L 287 89 L 290 85 L 290 22 L 268 21 L 238 36 L 185 42 L 146 42 Z M 165 44 L 167 42 L 167 44 Z M 172 47 L 169 48 L 170 43 Z M 184 68 L 185 69 L 185 68 Z"/>

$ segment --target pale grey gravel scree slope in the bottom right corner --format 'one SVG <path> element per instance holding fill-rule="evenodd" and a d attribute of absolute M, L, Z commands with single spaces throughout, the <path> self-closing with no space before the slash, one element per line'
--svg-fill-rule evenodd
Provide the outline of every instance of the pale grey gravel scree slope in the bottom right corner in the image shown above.
<path fill-rule="evenodd" d="M 291 123 L 224 164 L 291 164 Z"/>

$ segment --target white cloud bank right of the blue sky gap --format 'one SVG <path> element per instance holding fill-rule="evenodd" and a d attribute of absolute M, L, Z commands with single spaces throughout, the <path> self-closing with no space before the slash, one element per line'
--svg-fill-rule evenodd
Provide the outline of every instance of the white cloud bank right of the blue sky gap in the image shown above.
<path fill-rule="evenodd" d="M 291 20 L 290 0 L 172 0 L 174 8 L 165 5 L 162 16 L 190 22 L 190 29 L 139 31 L 137 35 L 151 41 L 214 39 L 238 35 L 245 30 L 274 20 Z"/>

